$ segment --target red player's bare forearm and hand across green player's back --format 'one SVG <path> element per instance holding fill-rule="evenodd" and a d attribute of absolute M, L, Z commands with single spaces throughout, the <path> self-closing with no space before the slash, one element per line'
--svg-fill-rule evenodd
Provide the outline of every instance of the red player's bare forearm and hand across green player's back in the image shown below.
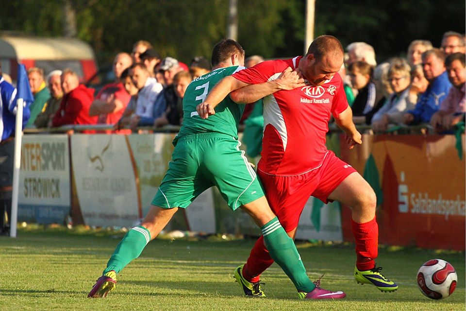
<path fill-rule="evenodd" d="M 215 114 L 216 105 L 223 101 L 230 92 L 247 85 L 247 83 L 239 81 L 232 76 L 228 76 L 220 80 L 209 92 L 204 102 L 197 105 L 196 111 L 200 118 L 207 119 L 209 116 Z"/>

